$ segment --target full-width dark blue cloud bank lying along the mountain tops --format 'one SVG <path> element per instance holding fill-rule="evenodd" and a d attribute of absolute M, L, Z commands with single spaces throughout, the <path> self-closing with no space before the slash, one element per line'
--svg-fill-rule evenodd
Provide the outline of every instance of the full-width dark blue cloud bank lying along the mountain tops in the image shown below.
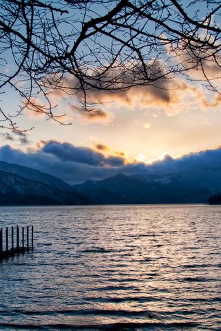
<path fill-rule="evenodd" d="M 41 147 L 40 147 L 41 146 Z M 52 174 L 68 183 L 81 183 L 88 179 L 99 180 L 115 174 L 169 174 L 204 168 L 221 167 L 221 147 L 164 159 L 151 165 L 126 163 L 124 157 L 105 156 L 92 148 L 76 147 L 70 143 L 45 141 L 39 150 L 23 152 L 6 145 L 0 148 L 0 160 L 25 165 Z"/>

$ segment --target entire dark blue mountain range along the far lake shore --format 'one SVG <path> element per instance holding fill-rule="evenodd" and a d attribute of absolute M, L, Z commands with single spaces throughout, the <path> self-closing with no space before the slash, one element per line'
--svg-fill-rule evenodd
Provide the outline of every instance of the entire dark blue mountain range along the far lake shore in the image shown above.
<path fill-rule="evenodd" d="M 221 192 L 221 170 L 178 174 L 117 174 L 100 181 L 69 185 L 21 165 L 0 161 L 0 205 L 76 205 L 207 203 Z"/>

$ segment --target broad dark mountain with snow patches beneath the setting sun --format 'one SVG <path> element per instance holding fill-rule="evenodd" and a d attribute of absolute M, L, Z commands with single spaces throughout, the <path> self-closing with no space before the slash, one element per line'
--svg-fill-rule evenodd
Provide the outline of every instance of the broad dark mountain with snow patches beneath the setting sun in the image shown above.
<path fill-rule="evenodd" d="M 118 174 L 102 181 L 73 186 L 92 203 L 206 203 L 221 191 L 221 170 L 204 169 L 180 174 Z"/>

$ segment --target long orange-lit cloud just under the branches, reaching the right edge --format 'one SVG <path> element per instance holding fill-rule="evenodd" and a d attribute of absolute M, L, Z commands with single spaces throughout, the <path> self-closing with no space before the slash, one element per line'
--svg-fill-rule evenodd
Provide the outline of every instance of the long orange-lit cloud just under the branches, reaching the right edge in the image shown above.
<path fill-rule="evenodd" d="M 106 108 L 124 106 L 131 110 L 137 108 L 157 109 L 167 115 L 175 115 L 191 110 L 209 110 L 220 106 L 220 94 L 205 92 L 202 86 L 187 83 L 184 79 L 156 82 L 154 86 L 134 86 L 128 90 L 110 92 L 88 92 L 88 100 L 93 103 L 104 101 Z M 114 101 L 107 103 L 105 101 Z"/>

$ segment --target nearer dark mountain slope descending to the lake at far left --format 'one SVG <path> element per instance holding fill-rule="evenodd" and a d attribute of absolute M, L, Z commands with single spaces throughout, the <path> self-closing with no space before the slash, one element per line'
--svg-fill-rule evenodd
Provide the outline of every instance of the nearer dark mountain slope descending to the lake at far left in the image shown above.
<path fill-rule="evenodd" d="M 4 166 L 7 167 L 7 164 Z M 21 170 L 20 173 L 23 174 L 24 168 L 12 165 L 14 172 Z M 88 203 L 88 199 L 73 192 L 70 185 L 56 177 L 30 168 L 25 168 L 25 170 L 26 177 L 32 177 L 31 174 L 34 174 L 34 180 L 0 170 L 0 205 L 78 205 Z M 44 183 L 44 178 L 46 183 Z M 48 182 L 51 185 L 48 185 Z M 60 187 L 62 190 L 59 189 Z"/>

